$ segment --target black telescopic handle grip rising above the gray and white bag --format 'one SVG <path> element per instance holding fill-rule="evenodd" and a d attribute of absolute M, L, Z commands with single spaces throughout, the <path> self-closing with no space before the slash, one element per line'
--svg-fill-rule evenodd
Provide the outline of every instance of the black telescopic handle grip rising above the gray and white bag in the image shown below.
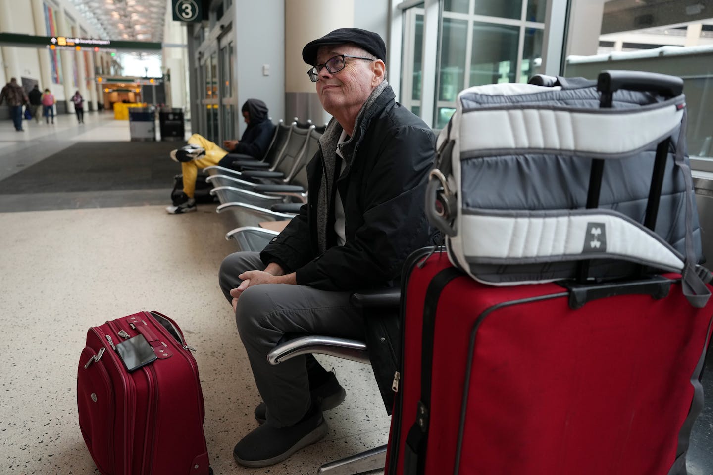
<path fill-rule="evenodd" d="M 600 93 L 612 94 L 620 89 L 652 92 L 674 98 L 683 93 L 683 80 L 672 75 L 644 71 L 608 70 L 599 73 L 597 90 Z"/>

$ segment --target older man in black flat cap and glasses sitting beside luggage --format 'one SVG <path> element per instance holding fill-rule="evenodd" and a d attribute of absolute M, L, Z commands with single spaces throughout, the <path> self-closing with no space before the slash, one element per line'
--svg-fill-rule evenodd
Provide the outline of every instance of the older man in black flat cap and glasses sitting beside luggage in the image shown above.
<path fill-rule="evenodd" d="M 276 464 L 322 439 L 322 409 L 344 397 L 313 357 L 271 366 L 267 353 L 286 334 L 363 339 L 352 291 L 397 285 L 406 257 L 429 242 L 423 208 L 434 135 L 394 100 L 384 41 L 340 28 L 307 43 L 302 58 L 334 116 L 307 165 L 309 202 L 260 254 L 231 254 L 220 267 L 264 401 L 255 417 L 265 423 L 233 450 L 245 466 Z"/>

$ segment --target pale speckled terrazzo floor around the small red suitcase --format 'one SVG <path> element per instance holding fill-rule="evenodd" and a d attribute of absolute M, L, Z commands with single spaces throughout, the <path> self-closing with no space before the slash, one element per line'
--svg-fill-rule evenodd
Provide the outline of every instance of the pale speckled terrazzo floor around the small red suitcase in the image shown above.
<path fill-rule="evenodd" d="M 0 474 L 94 475 L 77 422 L 76 372 L 86 330 L 136 310 L 183 328 L 200 368 L 205 434 L 216 475 L 314 474 L 327 461 L 386 442 L 389 418 L 371 368 L 322 357 L 347 388 L 325 412 L 329 434 L 268 469 L 244 469 L 232 447 L 256 427 L 259 395 L 216 271 L 234 250 L 214 206 L 0 214 Z"/>

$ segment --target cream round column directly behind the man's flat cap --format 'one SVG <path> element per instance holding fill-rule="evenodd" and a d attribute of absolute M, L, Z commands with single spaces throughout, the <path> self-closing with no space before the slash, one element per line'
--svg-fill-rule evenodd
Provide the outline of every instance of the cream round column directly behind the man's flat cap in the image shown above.
<path fill-rule="evenodd" d="M 314 83 L 307 77 L 302 47 L 329 31 L 354 26 L 354 0 L 284 0 L 284 117 L 311 119 L 316 125 L 331 117 L 322 109 Z"/>

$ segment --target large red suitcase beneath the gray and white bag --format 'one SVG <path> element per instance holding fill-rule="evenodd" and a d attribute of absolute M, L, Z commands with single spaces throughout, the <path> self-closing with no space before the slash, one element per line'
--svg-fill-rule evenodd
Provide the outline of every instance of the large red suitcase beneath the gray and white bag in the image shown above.
<path fill-rule="evenodd" d="M 386 474 L 685 474 L 713 301 L 678 277 L 491 287 L 445 253 L 412 266 Z"/>

